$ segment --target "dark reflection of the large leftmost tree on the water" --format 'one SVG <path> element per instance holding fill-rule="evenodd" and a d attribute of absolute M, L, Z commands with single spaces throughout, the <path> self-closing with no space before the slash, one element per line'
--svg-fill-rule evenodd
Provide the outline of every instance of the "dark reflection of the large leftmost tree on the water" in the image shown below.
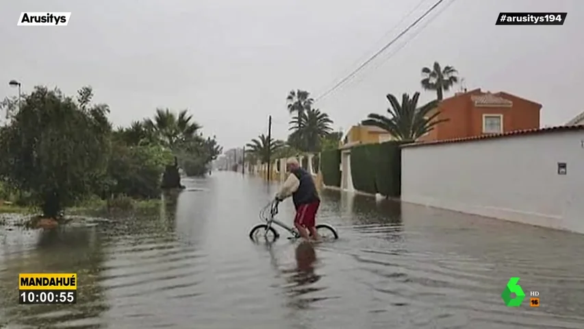
<path fill-rule="evenodd" d="M 1 258 L 0 307 L 6 323 L 23 328 L 101 328 L 109 308 L 99 285 L 102 241 L 94 228 L 41 232 L 33 249 Z M 77 273 L 77 304 L 18 306 L 18 273 Z"/>

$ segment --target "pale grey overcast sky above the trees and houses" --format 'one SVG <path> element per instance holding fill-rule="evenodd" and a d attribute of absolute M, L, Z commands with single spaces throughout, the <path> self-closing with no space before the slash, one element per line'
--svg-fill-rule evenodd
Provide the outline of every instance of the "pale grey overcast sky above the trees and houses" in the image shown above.
<path fill-rule="evenodd" d="M 285 138 L 289 90 L 317 97 L 434 2 L 6 0 L 0 97 L 16 94 L 10 79 L 26 92 L 45 84 L 71 94 L 89 84 L 117 125 L 157 107 L 188 108 L 227 149 L 266 132 L 272 114 L 273 134 Z M 24 11 L 72 14 L 66 27 L 16 26 Z M 513 11 L 568 17 L 563 26 L 494 25 L 499 12 Z M 385 94 L 420 90 L 420 69 L 437 60 L 455 66 L 467 88 L 537 101 L 542 125 L 563 124 L 584 111 L 583 32 L 584 0 L 446 0 L 316 106 L 346 130 L 370 112 L 385 112 Z"/>

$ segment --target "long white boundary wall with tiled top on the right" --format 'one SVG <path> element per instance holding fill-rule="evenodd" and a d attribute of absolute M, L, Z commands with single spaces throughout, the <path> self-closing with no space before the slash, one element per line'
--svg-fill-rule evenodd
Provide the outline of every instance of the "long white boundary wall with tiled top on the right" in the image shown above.
<path fill-rule="evenodd" d="M 405 146 L 401 184 L 404 202 L 584 233 L 584 130 Z"/>

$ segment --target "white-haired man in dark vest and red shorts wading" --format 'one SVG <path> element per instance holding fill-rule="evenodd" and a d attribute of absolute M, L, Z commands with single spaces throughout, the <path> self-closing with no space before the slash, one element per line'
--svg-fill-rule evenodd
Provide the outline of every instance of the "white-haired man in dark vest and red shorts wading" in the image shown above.
<path fill-rule="evenodd" d="M 294 226 L 304 239 L 309 240 L 308 232 L 310 232 L 312 239 L 318 241 L 320 237 L 314 226 L 316 225 L 316 212 L 320 206 L 320 197 L 318 197 L 314 179 L 310 173 L 300 167 L 296 158 L 286 160 L 286 171 L 290 175 L 276 194 L 276 199 L 281 202 L 292 195 L 292 202 L 296 208 Z"/>

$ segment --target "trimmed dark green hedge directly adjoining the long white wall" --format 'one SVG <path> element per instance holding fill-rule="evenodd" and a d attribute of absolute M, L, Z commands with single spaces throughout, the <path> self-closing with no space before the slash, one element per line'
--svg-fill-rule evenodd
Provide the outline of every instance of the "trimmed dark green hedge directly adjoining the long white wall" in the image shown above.
<path fill-rule="evenodd" d="M 401 195 L 400 144 L 390 141 L 351 149 L 351 178 L 357 191 L 387 197 Z"/>

